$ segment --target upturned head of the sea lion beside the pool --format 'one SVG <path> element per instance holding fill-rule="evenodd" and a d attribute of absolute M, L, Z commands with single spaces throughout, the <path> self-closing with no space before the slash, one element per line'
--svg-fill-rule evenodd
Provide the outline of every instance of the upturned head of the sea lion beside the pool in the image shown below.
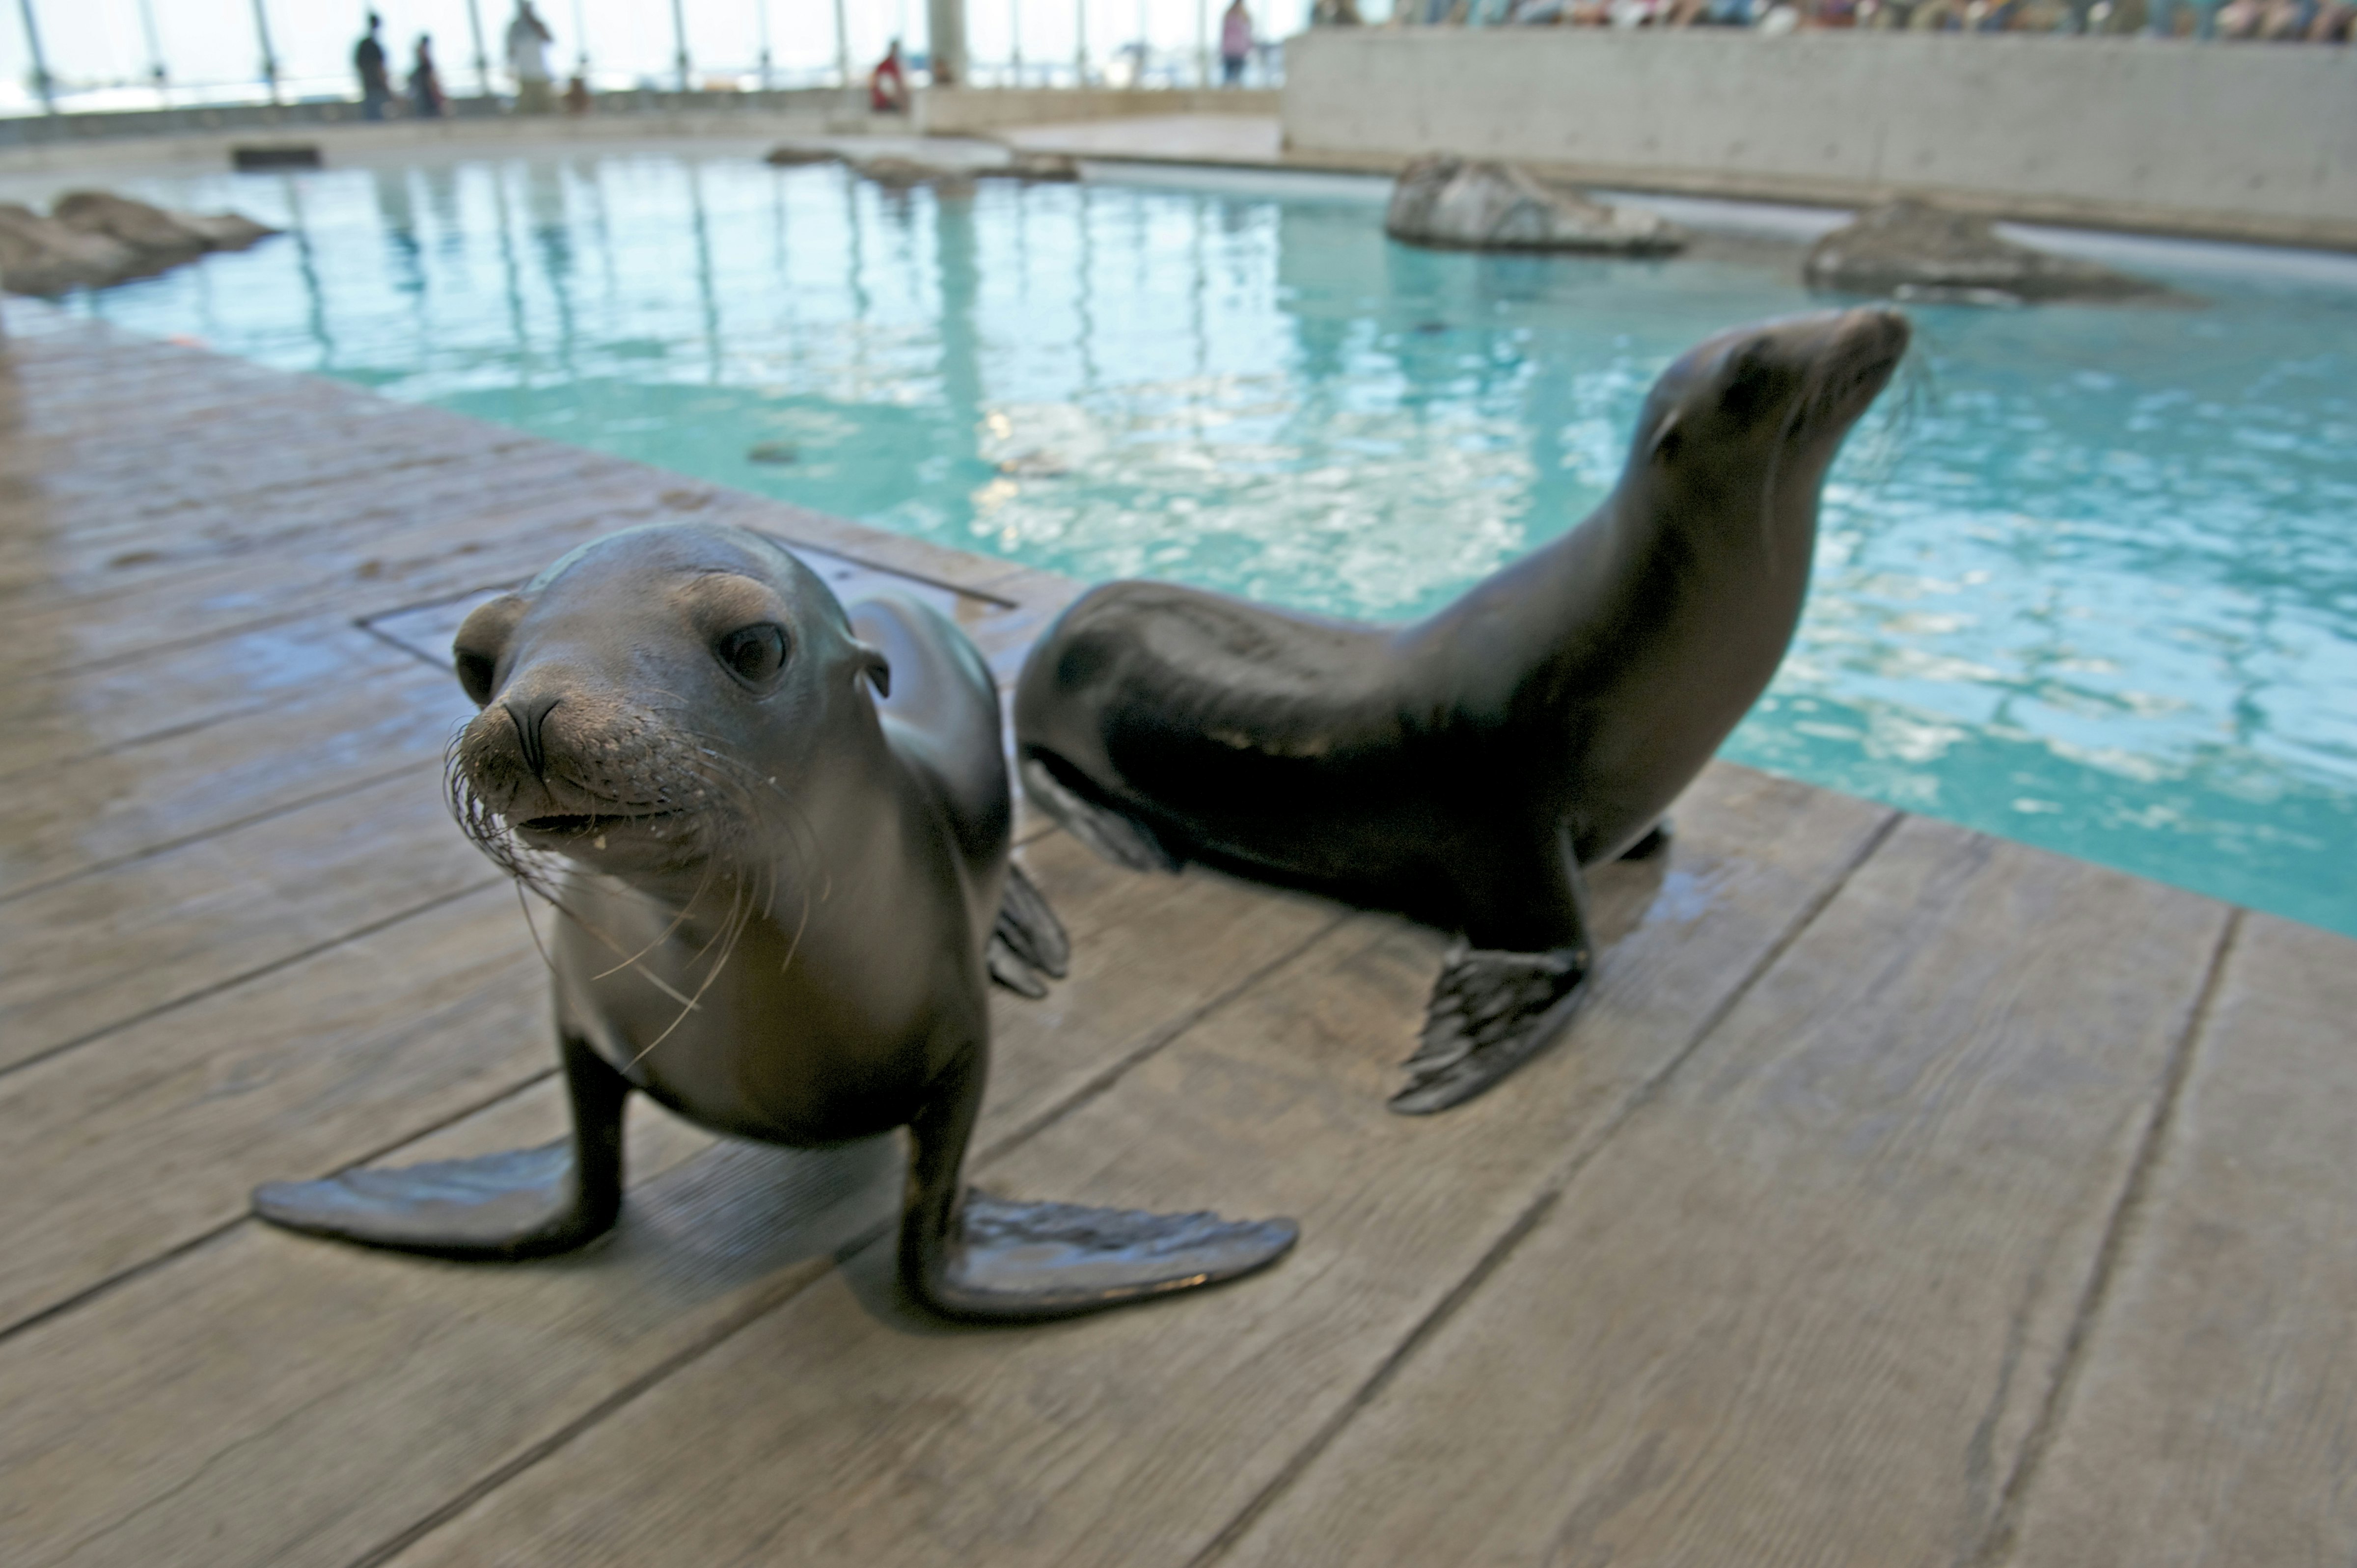
<path fill-rule="evenodd" d="M 1907 337 L 1907 318 L 1879 307 L 1721 332 L 1655 382 L 1626 472 L 1664 486 L 1657 505 L 1681 516 L 1782 514 L 1813 531 L 1824 469 L 1890 382 Z"/>

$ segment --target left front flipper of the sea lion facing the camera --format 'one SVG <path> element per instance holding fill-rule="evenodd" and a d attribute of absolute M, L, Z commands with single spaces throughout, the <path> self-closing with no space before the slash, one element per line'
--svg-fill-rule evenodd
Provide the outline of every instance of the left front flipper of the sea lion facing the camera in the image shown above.
<path fill-rule="evenodd" d="M 504 1261 L 570 1252 L 610 1231 L 622 1210 L 629 1082 L 570 1037 L 563 1070 L 570 1139 L 476 1160 L 269 1181 L 255 1188 L 255 1214 L 290 1231 L 429 1257 Z"/>

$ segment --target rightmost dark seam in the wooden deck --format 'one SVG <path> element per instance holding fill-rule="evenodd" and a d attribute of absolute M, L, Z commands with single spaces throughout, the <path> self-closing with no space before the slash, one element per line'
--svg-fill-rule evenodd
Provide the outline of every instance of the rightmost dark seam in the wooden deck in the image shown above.
<path fill-rule="evenodd" d="M 1996 1495 L 1996 1509 L 1989 1516 L 1989 1528 L 1982 1533 L 1980 1542 L 1970 1547 L 1970 1551 L 1963 1551 L 1956 1559 L 1966 1568 L 1996 1568 L 1999 1563 L 2011 1561 L 2013 1549 L 2020 1544 L 2022 1509 L 2027 1507 L 2029 1490 L 2036 1485 L 2039 1471 L 2046 1464 L 2046 1452 L 2053 1448 L 2055 1434 L 2069 1415 L 2072 1396 L 2079 1391 L 2079 1377 L 2086 1370 L 2088 1344 L 2093 1344 L 2095 1332 L 2102 1327 L 2102 1311 L 2112 1297 L 2112 1285 L 2119 1278 L 2119 1264 L 2126 1257 L 2128 1240 L 2138 1228 L 2145 1207 L 2150 1207 L 2152 1174 L 2159 1170 L 2161 1155 L 2168 1146 L 2168 1134 L 2178 1122 L 2185 1082 L 2192 1078 L 2194 1056 L 2201 1049 L 2201 1040 L 2209 1035 L 2211 1012 L 2218 1004 L 2218 990 L 2225 981 L 2225 969 L 2232 960 L 2234 943 L 2242 936 L 2246 915 L 2249 910 L 2239 905 L 2230 908 L 2225 922 L 2218 927 L 2218 943 L 2211 948 L 2209 967 L 2201 974 L 2201 988 L 2194 993 L 2192 1007 L 2185 1012 L 2185 1026 L 2178 1030 L 2178 1037 L 2168 1049 L 2161 1089 L 2152 1101 L 2152 1113 L 2145 1118 L 2145 1129 L 2138 1134 L 2135 1155 L 2128 1162 L 2128 1179 L 2121 1184 L 2119 1198 L 2112 1203 L 2112 1212 L 2105 1219 L 2102 1240 L 2095 1245 L 2095 1261 L 2088 1269 L 2086 1285 L 2079 1292 L 2079 1304 L 2072 1311 L 2069 1330 L 2062 1337 L 2062 1351 L 2055 1356 L 2053 1372 L 2046 1382 L 2046 1398 L 2039 1401 L 2039 1415 L 2029 1424 L 2029 1434 L 2022 1438 L 2022 1450 L 2013 1462 L 2013 1474 L 2006 1476 L 2006 1485 Z"/>

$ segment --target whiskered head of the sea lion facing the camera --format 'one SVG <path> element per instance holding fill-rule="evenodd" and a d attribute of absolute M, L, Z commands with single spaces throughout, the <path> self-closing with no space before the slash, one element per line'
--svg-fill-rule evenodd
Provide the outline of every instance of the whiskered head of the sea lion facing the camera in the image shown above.
<path fill-rule="evenodd" d="M 889 681 L 813 571 L 698 523 L 582 545 L 467 615 L 450 653 L 481 707 L 450 799 L 509 870 L 519 844 L 610 872 L 726 858 L 792 813 L 830 743 L 872 733 L 863 686 Z"/>

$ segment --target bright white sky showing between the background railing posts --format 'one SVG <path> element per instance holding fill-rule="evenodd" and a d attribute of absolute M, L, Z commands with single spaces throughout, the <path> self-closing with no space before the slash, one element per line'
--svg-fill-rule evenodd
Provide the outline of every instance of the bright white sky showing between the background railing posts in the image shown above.
<path fill-rule="evenodd" d="M 66 83 L 144 83 L 148 42 L 139 0 L 31 0 L 49 71 Z M 750 71 L 761 52 L 761 14 L 768 14 L 771 59 L 783 71 L 820 71 L 834 64 L 832 0 L 679 0 L 688 24 L 688 57 L 695 71 Z M 262 0 L 280 75 L 349 78 L 351 45 L 361 35 L 368 5 L 358 0 Z M 497 64 L 500 35 L 514 0 L 476 0 L 483 42 Z M 592 66 L 603 73 L 658 73 L 672 68 L 669 0 L 535 0 L 556 47 L 549 59 L 570 66 L 580 38 L 589 40 Z M 1193 50 L 1197 7 L 1214 33 L 1226 0 L 966 0 L 966 47 L 976 61 L 1011 54 L 1016 7 L 1025 61 L 1072 59 L 1077 9 L 1087 7 L 1089 54 L 1101 61 L 1113 47 L 1138 38 L 1141 21 L 1157 50 Z M 1308 0 L 1247 0 L 1256 31 L 1299 31 Z M 474 45 L 467 0 L 379 0 L 387 47 L 396 75 L 408 68 L 410 40 L 434 35 L 443 83 L 474 90 Z M 255 0 L 148 0 L 158 45 L 174 83 L 238 83 L 259 78 L 262 47 L 255 35 Z M 853 64 L 865 68 L 898 33 L 924 47 L 924 0 L 844 0 Z M 12 87 L 31 73 L 19 5 L 0 2 L 0 80 Z M 7 97 L 14 97 L 9 92 Z"/>

